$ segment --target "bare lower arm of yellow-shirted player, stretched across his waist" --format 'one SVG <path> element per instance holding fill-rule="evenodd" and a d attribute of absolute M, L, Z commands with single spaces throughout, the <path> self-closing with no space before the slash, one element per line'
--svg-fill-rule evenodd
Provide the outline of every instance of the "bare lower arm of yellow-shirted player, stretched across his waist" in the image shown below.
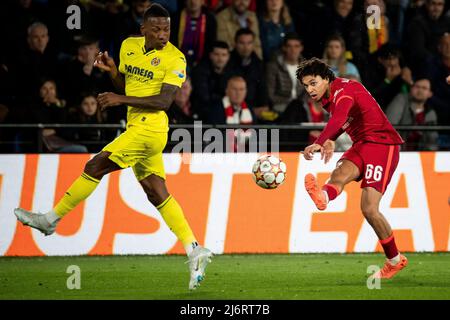
<path fill-rule="evenodd" d="M 172 84 L 163 83 L 161 92 L 158 95 L 148 97 L 132 97 L 118 95 L 112 92 L 105 92 L 98 95 L 98 102 L 102 110 L 107 107 L 114 107 L 126 104 L 131 107 L 144 108 L 155 111 L 166 111 L 173 102 L 178 87 Z"/>

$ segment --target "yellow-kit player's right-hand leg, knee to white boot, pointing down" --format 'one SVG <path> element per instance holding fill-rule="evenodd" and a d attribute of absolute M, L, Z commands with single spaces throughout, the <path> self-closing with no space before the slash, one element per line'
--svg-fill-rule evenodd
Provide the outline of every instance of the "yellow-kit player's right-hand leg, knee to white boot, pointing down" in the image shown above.
<path fill-rule="evenodd" d="M 206 267 L 211 262 L 212 252 L 198 244 L 183 210 L 167 191 L 163 178 L 152 174 L 141 180 L 140 184 L 149 201 L 158 209 L 170 230 L 183 244 L 189 257 L 189 270 L 191 272 L 189 289 L 196 289 L 205 277 Z"/>

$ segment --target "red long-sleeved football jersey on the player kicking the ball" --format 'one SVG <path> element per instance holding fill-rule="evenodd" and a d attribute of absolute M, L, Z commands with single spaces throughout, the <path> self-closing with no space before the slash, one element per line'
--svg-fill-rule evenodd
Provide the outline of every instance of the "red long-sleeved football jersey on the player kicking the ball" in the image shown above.
<path fill-rule="evenodd" d="M 330 96 L 323 98 L 322 104 L 330 113 L 330 120 L 317 138 L 317 144 L 323 145 L 327 139 L 336 140 L 344 131 L 353 143 L 370 141 L 396 145 L 404 142 L 370 92 L 357 81 L 336 78 L 331 83 Z"/>

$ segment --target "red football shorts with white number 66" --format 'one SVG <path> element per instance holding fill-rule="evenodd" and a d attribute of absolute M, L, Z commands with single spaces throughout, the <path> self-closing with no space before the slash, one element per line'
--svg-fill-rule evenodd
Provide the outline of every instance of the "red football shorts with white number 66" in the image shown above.
<path fill-rule="evenodd" d="M 399 145 L 358 142 L 347 150 L 340 160 L 353 162 L 361 173 L 361 188 L 372 187 L 384 194 L 397 168 L 400 158 Z"/>

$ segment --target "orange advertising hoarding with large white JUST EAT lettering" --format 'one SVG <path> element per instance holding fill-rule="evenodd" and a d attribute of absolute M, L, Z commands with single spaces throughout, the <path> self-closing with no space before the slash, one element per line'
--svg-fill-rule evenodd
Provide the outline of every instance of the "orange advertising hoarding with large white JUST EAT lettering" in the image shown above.
<path fill-rule="evenodd" d="M 13 208 L 45 212 L 92 155 L 0 156 L 0 255 L 184 253 L 147 201 L 131 169 L 102 179 L 49 237 L 17 223 Z M 251 178 L 257 154 L 165 154 L 170 192 L 200 242 L 215 253 L 381 251 L 351 183 L 318 213 L 303 185 L 308 172 L 325 182 L 329 164 L 281 153 L 286 182 L 275 190 Z M 380 211 L 401 251 L 450 251 L 450 152 L 403 152 Z"/>

